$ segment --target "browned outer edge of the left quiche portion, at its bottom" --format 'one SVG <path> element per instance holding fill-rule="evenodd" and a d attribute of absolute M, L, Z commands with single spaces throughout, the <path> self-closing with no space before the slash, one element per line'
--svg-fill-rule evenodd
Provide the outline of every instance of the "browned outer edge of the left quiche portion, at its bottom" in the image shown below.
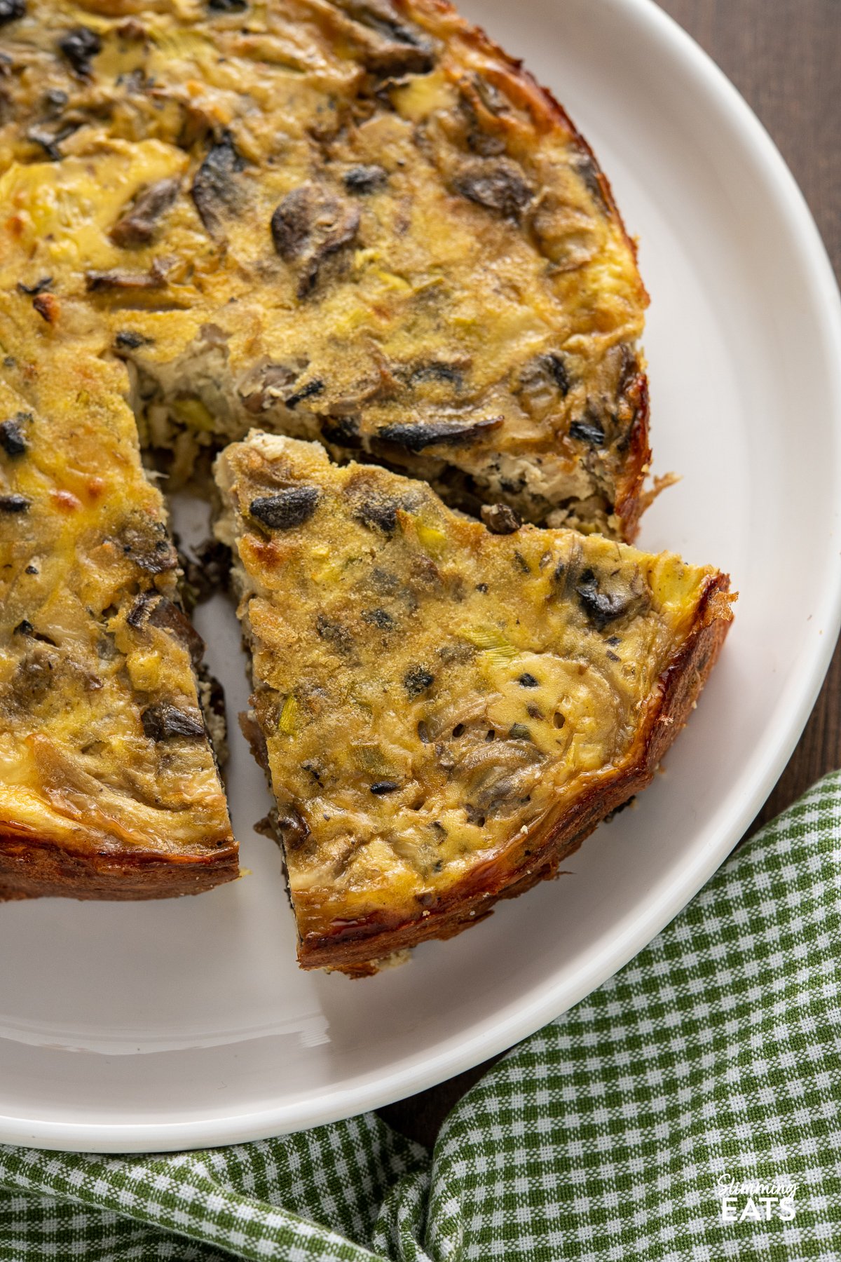
<path fill-rule="evenodd" d="M 208 854 L 73 852 L 44 838 L 0 834 L 0 900 L 175 899 L 240 875 L 237 847 Z"/>

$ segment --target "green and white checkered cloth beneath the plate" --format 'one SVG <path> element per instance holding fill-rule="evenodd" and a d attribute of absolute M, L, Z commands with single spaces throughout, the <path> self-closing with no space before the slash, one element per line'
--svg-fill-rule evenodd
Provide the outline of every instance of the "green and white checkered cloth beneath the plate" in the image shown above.
<path fill-rule="evenodd" d="M 459 1103 L 175 1156 L 0 1147 L 0 1257 L 841 1257 L 841 774 Z"/>

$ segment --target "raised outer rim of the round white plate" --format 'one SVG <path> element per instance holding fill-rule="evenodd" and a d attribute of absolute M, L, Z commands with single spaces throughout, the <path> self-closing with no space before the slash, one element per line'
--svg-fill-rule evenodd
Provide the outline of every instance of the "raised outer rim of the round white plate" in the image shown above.
<path fill-rule="evenodd" d="M 751 107 L 712 58 L 664 13 L 656 0 L 601 0 L 604 8 L 623 15 L 653 38 L 663 56 L 680 66 L 696 88 L 717 101 L 733 133 L 750 151 L 765 184 L 774 191 L 774 203 L 787 223 L 798 271 L 806 281 L 809 305 L 822 313 L 825 360 L 832 415 L 841 439 L 841 295 L 832 265 L 812 212 L 779 149 Z M 836 443 L 835 485 L 841 491 L 841 442 Z M 232 1111 L 223 1117 L 195 1121 L 106 1123 L 84 1121 L 38 1121 L 0 1114 L 0 1142 L 21 1143 L 63 1151 L 163 1152 L 240 1143 L 269 1138 L 313 1126 L 335 1122 L 434 1087 L 463 1073 L 566 1012 L 601 986 L 667 925 L 726 859 L 735 843 L 768 798 L 797 745 L 826 676 L 841 630 L 841 567 L 822 593 L 815 611 L 823 627 L 822 644 L 794 670 L 788 685 L 792 718 L 784 731 L 768 733 L 748 764 L 741 808 L 728 815 L 720 833 L 696 854 L 668 891 L 649 899 L 633 924 L 612 940 L 608 949 L 593 952 L 579 968 L 574 984 L 556 974 L 535 988 L 527 1001 L 509 1003 L 503 1013 L 474 1022 L 469 1035 L 458 1034 L 439 1042 L 422 1061 L 405 1056 L 398 1065 L 349 1083 L 328 1088 L 318 1095 L 261 1107 Z M 633 909 L 632 909 L 633 910 Z"/>

